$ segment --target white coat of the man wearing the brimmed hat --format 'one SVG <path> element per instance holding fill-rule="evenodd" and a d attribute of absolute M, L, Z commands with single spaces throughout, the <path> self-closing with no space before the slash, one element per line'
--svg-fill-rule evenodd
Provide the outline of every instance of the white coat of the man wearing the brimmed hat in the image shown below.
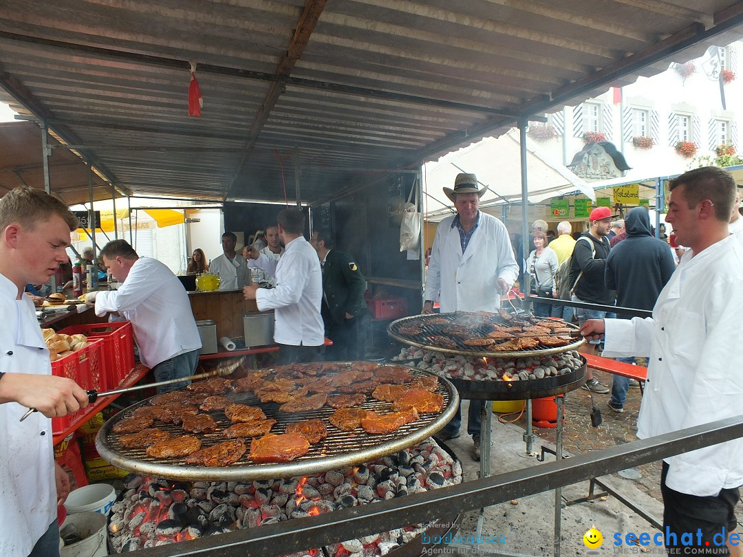
<path fill-rule="evenodd" d="M 479 224 L 462 255 L 454 216 L 438 224 L 426 276 L 426 300 L 437 301 L 441 313 L 494 311 L 500 307 L 497 279 L 513 284 L 519 265 L 513 257 L 505 225 L 479 213 Z"/>

